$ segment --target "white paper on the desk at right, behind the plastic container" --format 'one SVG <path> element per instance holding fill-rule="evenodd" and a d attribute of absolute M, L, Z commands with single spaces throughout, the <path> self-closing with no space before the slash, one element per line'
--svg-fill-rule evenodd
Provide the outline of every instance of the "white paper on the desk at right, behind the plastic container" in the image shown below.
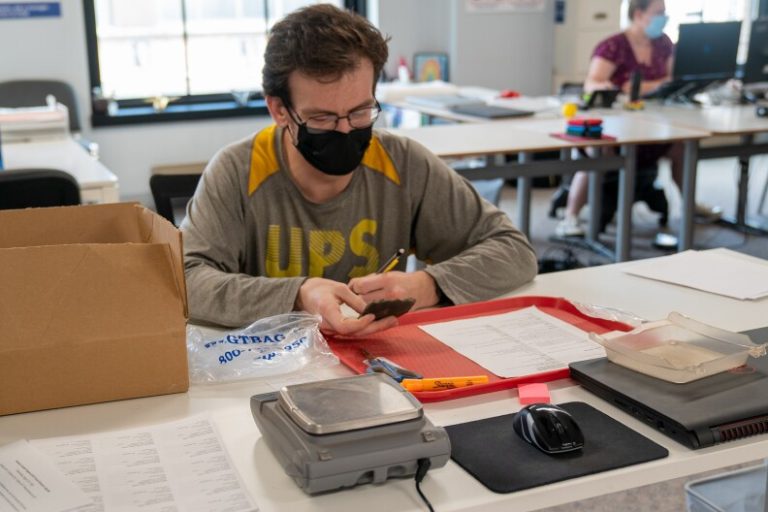
<path fill-rule="evenodd" d="M 684 251 L 628 265 L 624 271 L 739 300 L 768 296 L 768 264 L 728 249 Z"/>

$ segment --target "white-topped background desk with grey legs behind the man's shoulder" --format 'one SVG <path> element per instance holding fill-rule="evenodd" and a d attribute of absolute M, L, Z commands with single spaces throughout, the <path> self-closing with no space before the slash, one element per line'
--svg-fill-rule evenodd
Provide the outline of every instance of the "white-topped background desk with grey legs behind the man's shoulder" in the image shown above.
<path fill-rule="evenodd" d="M 631 213 L 634 197 L 636 150 L 640 144 L 682 142 L 685 145 L 685 176 L 689 186 L 684 187 L 684 208 L 681 218 L 680 249 L 690 248 L 693 232 L 693 204 L 695 175 L 697 164 L 698 141 L 709 136 L 708 132 L 689 128 L 680 128 L 669 123 L 658 123 L 626 115 L 606 115 L 603 117 L 605 133 L 615 140 L 566 141 L 552 137 L 552 133 L 562 133 L 565 128 L 563 119 L 525 118 L 511 121 L 491 121 L 484 123 L 465 123 L 421 128 L 391 130 L 393 133 L 411 138 L 424 145 L 441 158 L 462 158 L 469 156 L 494 156 L 509 153 L 518 154 L 517 163 L 489 165 L 485 168 L 458 170 L 469 179 L 517 178 L 518 211 L 517 227 L 528 236 L 530 234 L 531 180 L 536 176 L 569 174 L 578 170 L 619 172 L 619 203 L 617 213 L 616 261 L 630 258 Z M 622 156 L 599 155 L 590 159 L 571 160 L 573 148 L 618 147 Z M 560 160 L 534 161 L 533 153 L 559 151 Z M 596 237 L 596 234 L 595 234 Z"/>

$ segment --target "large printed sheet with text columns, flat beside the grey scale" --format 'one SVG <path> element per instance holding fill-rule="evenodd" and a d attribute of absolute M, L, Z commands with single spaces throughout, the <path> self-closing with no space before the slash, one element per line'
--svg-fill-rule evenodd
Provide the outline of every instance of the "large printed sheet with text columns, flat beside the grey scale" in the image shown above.
<path fill-rule="evenodd" d="M 78 512 L 258 510 L 208 415 L 30 443 L 90 496 Z"/>

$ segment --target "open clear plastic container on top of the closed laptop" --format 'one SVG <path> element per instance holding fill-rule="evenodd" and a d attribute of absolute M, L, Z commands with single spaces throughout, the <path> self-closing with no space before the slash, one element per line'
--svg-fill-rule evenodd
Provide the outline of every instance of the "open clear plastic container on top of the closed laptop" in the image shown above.
<path fill-rule="evenodd" d="M 589 337 L 605 347 L 610 361 L 678 384 L 742 366 L 749 356 L 764 356 L 767 345 L 679 313 L 613 338 Z"/>

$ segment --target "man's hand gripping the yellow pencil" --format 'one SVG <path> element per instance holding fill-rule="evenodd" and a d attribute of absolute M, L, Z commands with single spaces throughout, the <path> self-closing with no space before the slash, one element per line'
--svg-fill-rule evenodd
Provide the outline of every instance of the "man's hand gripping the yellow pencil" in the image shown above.
<path fill-rule="evenodd" d="M 439 299 L 435 280 L 423 270 L 392 271 L 356 277 L 349 282 L 349 288 L 366 303 L 384 299 L 414 298 L 414 309 L 434 306 Z"/>

